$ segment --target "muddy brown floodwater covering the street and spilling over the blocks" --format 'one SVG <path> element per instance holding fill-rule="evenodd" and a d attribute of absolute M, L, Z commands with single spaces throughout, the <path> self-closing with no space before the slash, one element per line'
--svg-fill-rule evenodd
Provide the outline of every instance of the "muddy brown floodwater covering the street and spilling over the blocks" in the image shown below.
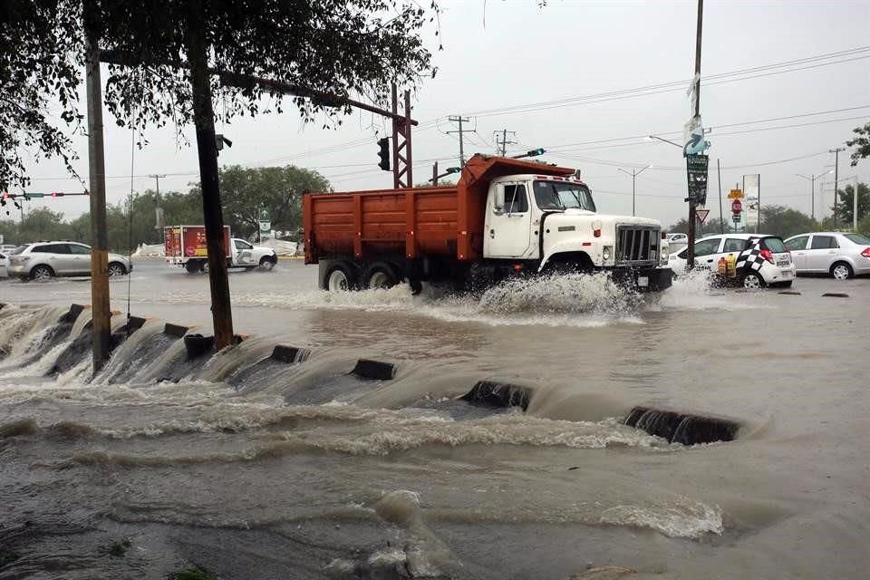
<path fill-rule="evenodd" d="M 93 378 L 88 310 L 63 319 L 88 281 L 0 280 L 0 579 L 865 577 L 870 280 L 471 298 L 315 275 L 231 274 L 251 336 L 187 361 L 163 324 L 209 332 L 207 277 L 140 260 L 113 325 L 128 287 L 154 318 Z M 527 387 L 527 411 L 457 400 L 481 380 Z M 634 405 L 741 428 L 669 444 L 621 423 Z"/>

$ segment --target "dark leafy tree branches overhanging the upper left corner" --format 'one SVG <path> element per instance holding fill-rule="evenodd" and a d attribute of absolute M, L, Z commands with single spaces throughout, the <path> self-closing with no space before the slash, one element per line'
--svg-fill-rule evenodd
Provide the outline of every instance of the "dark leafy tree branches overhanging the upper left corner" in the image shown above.
<path fill-rule="evenodd" d="M 313 121 L 349 111 L 352 94 L 386 102 L 391 82 L 416 84 L 430 68 L 420 29 L 427 12 L 437 14 L 434 2 L 427 10 L 414 0 L 5 0 L 3 6 L 0 189 L 29 183 L 24 150 L 60 157 L 74 175 L 70 134 L 82 121 L 85 31 L 129 64 L 110 66 L 105 79 L 103 99 L 116 122 L 139 130 L 173 122 L 180 131 L 194 121 L 187 67 L 194 37 L 207 43 L 220 118 L 282 111 L 280 93 L 245 76 L 255 75 L 297 86 L 293 102 L 304 121 Z M 189 29 L 191 22 L 201 25 Z M 55 100 L 60 110 L 50 114 Z"/>

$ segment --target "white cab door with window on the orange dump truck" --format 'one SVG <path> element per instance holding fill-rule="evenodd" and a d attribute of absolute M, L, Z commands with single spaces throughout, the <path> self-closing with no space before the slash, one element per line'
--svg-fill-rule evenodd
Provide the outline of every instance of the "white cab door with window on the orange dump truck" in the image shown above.
<path fill-rule="evenodd" d="M 484 220 L 485 257 L 523 257 L 532 243 L 532 212 L 525 183 L 499 183 L 490 191 Z"/>

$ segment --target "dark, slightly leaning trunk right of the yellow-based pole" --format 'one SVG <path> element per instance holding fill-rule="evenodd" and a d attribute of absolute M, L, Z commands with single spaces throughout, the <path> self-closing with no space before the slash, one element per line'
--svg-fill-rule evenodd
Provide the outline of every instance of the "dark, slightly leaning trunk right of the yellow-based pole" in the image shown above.
<path fill-rule="evenodd" d="M 199 179 L 202 182 L 202 212 L 206 222 L 208 283 L 211 288 L 211 318 L 218 350 L 233 342 L 233 313 L 227 280 L 227 247 L 224 246 L 224 217 L 218 184 L 218 141 L 208 78 L 208 44 L 203 34 L 202 0 L 188 2 L 187 48 L 190 86 L 197 128 Z"/>

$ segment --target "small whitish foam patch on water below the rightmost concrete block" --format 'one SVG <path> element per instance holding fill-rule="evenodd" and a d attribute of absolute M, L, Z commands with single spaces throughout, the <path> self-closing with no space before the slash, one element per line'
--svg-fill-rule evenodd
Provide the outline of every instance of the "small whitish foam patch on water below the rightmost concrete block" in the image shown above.
<path fill-rule="evenodd" d="M 620 505 L 604 510 L 601 523 L 614 526 L 646 527 L 665 536 L 699 538 L 721 535 L 722 510 L 689 498 L 653 506 Z"/>

